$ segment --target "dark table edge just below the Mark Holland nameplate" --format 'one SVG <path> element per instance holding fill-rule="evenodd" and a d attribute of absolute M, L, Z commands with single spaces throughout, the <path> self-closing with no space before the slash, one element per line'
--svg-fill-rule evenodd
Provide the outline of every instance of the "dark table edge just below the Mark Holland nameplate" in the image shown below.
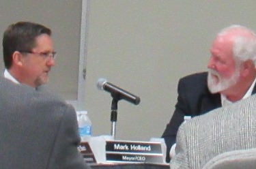
<path fill-rule="evenodd" d="M 169 164 L 90 164 L 92 169 L 170 169 Z"/>

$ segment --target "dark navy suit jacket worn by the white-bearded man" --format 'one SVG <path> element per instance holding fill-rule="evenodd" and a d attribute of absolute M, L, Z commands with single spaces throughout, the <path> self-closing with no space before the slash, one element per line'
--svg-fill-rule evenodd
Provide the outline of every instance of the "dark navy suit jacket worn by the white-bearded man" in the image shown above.
<path fill-rule="evenodd" d="M 184 116 L 195 117 L 221 107 L 221 95 L 210 93 L 207 77 L 208 73 L 202 72 L 185 76 L 179 80 L 175 111 L 162 134 L 167 145 L 167 162 L 170 161 L 169 151 L 176 142 L 177 129 L 184 121 Z M 253 93 L 256 93 L 256 87 L 254 87 Z"/>

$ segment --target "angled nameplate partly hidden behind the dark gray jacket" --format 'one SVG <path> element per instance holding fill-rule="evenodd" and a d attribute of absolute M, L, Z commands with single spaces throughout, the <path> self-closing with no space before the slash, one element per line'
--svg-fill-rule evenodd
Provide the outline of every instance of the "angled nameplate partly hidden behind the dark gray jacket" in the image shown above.
<path fill-rule="evenodd" d="M 89 164 L 97 163 L 94 153 L 91 151 L 91 147 L 89 146 L 89 142 L 81 142 L 77 149 L 79 149 L 80 153 L 83 155 L 85 162 Z"/>

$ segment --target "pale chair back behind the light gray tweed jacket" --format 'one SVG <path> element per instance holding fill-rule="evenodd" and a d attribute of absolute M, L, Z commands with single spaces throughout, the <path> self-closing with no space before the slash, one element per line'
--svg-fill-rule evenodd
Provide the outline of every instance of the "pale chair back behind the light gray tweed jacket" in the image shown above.
<path fill-rule="evenodd" d="M 212 158 L 203 169 L 255 169 L 256 149 L 229 151 Z"/>

